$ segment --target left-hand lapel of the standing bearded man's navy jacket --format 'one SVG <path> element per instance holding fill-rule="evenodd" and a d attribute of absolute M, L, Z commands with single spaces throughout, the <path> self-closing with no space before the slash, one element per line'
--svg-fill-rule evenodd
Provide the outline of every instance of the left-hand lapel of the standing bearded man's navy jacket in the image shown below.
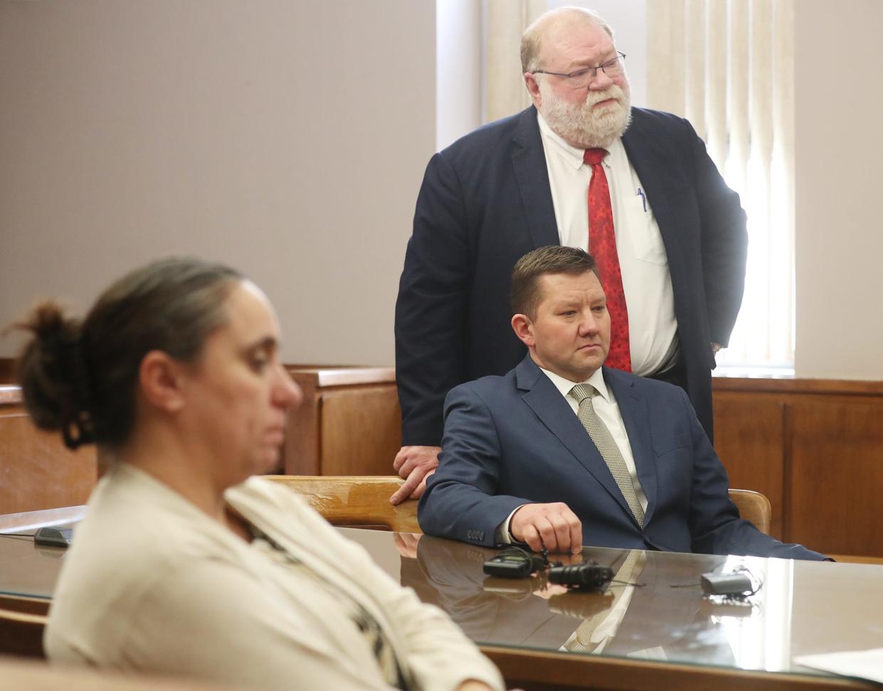
<path fill-rule="evenodd" d="M 546 154 L 540 138 L 537 111 L 532 106 L 518 116 L 512 137 L 512 166 L 533 246 L 558 244 L 558 225 L 555 222 Z"/>

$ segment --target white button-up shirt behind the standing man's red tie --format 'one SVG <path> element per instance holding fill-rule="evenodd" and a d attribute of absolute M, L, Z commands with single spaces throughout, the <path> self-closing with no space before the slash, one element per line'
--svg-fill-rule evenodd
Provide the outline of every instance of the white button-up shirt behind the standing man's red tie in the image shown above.
<path fill-rule="evenodd" d="M 588 191 L 592 167 L 583 162 L 583 149 L 570 146 L 555 134 L 539 113 L 538 120 L 559 242 L 591 252 Z M 602 165 L 610 188 L 616 252 L 629 310 L 631 369 L 648 375 L 667 364 L 677 335 L 668 255 L 623 140 L 615 139 L 608 150 Z"/>

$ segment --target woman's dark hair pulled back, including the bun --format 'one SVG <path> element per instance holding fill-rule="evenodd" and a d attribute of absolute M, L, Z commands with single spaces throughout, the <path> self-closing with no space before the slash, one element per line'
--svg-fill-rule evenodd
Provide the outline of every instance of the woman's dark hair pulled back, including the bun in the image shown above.
<path fill-rule="evenodd" d="M 242 274 L 200 259 L 161 259 L 126 274 L 105 290 L 86 319 L 64 316 L 53 301 L 14 327 L 30 331 L 16 363 L 25 406 L 64 444 L 117 445 L 135 415 L 141 360 L 162 350 L 188 362 L 227 313 L 223 302 Z"/>

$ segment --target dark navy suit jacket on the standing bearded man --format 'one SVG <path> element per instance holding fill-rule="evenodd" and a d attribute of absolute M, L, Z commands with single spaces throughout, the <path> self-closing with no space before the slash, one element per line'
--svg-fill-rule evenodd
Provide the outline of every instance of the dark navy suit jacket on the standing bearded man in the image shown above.
<path fill-rule="evenodd" d="M 712 438 L 710 344 L 728 343 L 742 304 L 745 214 L 686 120 L 632 109 L 623 145 L 659 224 L 686 390 Z M 449 390 L 504 374 L 525 356 L 509 326 L 512 267 L 558 242 L 533 107 L 429 161 L 396 301 L 403 445 L 438 445 Z"/>

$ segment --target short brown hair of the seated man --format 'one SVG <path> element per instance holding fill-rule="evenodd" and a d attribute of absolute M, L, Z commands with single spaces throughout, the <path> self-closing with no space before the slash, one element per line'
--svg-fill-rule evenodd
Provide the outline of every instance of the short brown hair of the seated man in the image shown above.
<path fill-rule="evenodd" d="M 512 282 L 509 284 L 509 305 L 513 314 L 526 314 L 531 319 L 537 316 L 540 306 L 540 276 L 546 274 L 585 274 L 593 271 L 598 274 L 598 265 L 588 252 L 576 247 L 562 247 L 550 244 L 527 252 L 518 259 L 512 269 Z"/>

